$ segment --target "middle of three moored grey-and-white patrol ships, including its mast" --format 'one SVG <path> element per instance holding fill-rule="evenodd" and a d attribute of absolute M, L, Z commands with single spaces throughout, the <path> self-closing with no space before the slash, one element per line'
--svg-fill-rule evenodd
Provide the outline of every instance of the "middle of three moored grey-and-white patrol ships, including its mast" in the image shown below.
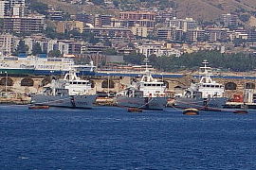
<path fill-rule="evenodd" d="M 163 81 L 153 78 L 148 69 L 142 78 L 132 82 L 130 87 L 118 93 L 116 103 L 119 107 L 138 108 L 144 110 L 163 110 L 167 105 L 168 97 L 165 94 L 166 86 Z"/>

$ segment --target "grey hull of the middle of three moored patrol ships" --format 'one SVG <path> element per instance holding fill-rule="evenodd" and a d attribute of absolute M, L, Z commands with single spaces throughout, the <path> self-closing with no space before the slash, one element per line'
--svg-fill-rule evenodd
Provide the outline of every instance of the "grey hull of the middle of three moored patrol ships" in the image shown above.
<path fill-rule="evenodd" d="M 163 110 L 167 105 L 167 97 L 116 97 L 119 107 L 140 108 L 144 110 Z"/>

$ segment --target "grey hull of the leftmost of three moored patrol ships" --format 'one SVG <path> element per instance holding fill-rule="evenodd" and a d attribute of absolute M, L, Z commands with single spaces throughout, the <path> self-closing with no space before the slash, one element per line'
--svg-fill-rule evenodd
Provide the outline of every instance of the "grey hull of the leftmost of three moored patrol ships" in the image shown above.
<path fill-rule="evenodd" d="M 96 95 L 54 96 L 35 94 L 31 97 L 31 103 L 34 105 L 80 109 L 91 109 L 95 100 Z"/>

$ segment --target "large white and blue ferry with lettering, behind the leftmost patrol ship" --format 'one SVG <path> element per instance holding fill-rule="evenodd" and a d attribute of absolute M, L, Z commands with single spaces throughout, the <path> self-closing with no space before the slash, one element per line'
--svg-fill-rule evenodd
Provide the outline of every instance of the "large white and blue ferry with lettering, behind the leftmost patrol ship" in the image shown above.
<path fill-rule="evenodd" d="M 90 64 L 77 65 L 72 58 L 39 58 L 27 56 L 19 58 L 16 56 L 0 57 L 0 72 L 17 75 L 64 75 L 70 68 L 76 68 L 78 75 L 94 75 L 96 66 Z"/>

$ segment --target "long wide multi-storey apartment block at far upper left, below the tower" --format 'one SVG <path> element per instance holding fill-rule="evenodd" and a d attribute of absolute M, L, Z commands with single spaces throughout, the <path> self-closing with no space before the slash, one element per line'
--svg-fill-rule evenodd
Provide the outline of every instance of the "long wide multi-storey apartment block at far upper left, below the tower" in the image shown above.
<path fill-rule="evenodd" d="M 4 29 L 16 33 L 41 33 L 45 28 L 44 15 L 29 15 L 26 17 L 5 17 Z"/>

